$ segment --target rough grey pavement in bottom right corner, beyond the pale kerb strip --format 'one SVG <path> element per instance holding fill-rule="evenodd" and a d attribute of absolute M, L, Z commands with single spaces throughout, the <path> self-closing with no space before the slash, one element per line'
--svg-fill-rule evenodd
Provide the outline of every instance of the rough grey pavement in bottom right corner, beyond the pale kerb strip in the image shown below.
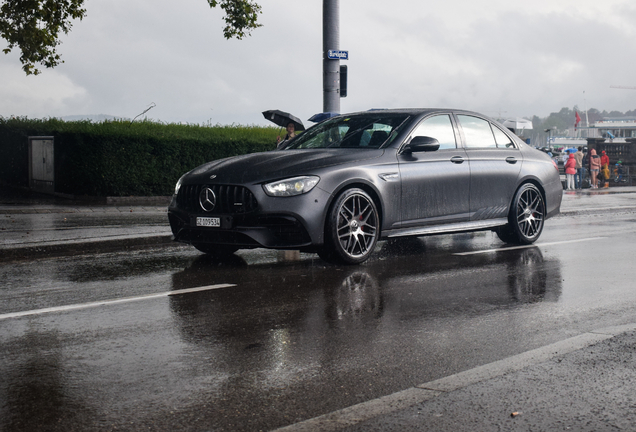
<path fill-rule="evenodd" d="M 277 429 L 636 430 L 636 324 L 599 329 Z"/>

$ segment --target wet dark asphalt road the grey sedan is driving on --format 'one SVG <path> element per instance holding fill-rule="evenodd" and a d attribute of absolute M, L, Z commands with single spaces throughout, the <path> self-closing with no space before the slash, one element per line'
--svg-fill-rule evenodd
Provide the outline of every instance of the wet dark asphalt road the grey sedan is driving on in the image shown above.
<path fill-rule="evenodd" d="M 183 248 L 2 264 L 0 429 L 270 430 L 631 323 L 635 220 L 559 217 L 505 251 L 383 243 L 356 267 Z"/>

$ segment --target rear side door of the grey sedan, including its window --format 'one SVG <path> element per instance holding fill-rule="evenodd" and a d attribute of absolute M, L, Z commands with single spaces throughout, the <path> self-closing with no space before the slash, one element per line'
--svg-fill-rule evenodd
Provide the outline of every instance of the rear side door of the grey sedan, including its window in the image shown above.
<path fill-rule="evenodd" d="M 523 163 L 521 151 L 490 121 L 456 117 L 470 162 L 470 219 L 506 217 Z"/>

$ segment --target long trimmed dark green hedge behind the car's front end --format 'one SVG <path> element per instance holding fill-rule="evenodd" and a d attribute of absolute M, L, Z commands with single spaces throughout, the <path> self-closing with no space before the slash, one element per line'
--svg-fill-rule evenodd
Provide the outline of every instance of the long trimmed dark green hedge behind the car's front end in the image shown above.
<path fill-rule="evenodd" d="M 171 195 L 183 173 L 205 162 L 273 150 L 278 132 L 258 126 L 0 117 L 0 180 L 28 186 L 28 137 L 53 136 L 56 192 Z"/>

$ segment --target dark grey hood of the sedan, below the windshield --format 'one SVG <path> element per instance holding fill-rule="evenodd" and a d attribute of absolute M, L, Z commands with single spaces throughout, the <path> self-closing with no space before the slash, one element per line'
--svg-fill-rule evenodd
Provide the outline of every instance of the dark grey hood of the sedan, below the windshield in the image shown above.
<path fill-rule="evenodd" d="M 186 183 L 261 183 L 285 177 L 313 174 L 316 170 L 363 160 L 375 159 L 384 150 L 317 149 L 282 150 L 252 153 L 208 162 L 190 171 Z"/>

